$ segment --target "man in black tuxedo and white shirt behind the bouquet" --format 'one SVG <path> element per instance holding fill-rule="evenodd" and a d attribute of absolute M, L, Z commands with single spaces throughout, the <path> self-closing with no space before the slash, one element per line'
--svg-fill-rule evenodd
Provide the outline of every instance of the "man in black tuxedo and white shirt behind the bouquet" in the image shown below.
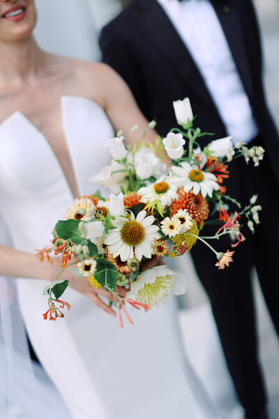
<path fill-rule="evenodd" d="M 242 159 L 234 161 L 226 183 L 230 196 L 244 205 L 259 192 L 261 224 L 255 226 L 255 235 L 246 232 L 246 242 L 236 249 L 234 263 L 225 271 L 217 270 L 208 249 L 199 244 L 193 260 L 211 299 L 246 418 L 267 418 L 250 269 L 257 267 L 279 332 L 279 280 L 273 268 L 279 237 L 279 141 L 264 96 L 252 1 L 133 0 L 103 29 L 100 46 L 104 61 L 128 82 L 146 117 L 156 118 L 160 135 L 176 126 L 172 101 L 189 96 L 196 126 L 215 133 L 210 140 L 232 135 L 235 142 L 266 149 L 259 168 Z M 214 233 L 211 227 L 204 235 Z M 227 238 L 218 242 L 222 251 L 229 247 Z"/>

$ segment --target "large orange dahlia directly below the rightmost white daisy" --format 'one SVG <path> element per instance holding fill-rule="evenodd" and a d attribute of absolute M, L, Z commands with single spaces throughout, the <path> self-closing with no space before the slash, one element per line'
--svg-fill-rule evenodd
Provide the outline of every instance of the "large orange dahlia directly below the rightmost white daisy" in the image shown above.
<path fill-rule="evenodd" d="M 185 192 L 184 189 L 177 191 L 179 199 L 174 200 L 170 206 L 170 216 L 174 216 L 179 210 L 187 210 L 193 220 L 202 223 L 209 216 L 209 204 L 202 193 L 195 195 L 193 191 Z"/>

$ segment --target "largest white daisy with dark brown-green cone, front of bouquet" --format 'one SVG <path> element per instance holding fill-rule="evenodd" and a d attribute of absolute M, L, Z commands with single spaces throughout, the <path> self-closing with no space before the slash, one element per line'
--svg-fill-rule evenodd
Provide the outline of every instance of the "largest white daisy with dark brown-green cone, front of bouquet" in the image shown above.
<path fill-rule="evenodd" d="M 120 255 L 122 262 L 135 257 L 142 260 L 142 256 L 151 258 L 154 239 L 160 238 L 159 227 L 154 226 L 153 215 L 146 216 L 146 211 L 140 211 L 137 218 L 131 212 L 130 219 L 116 216 L 112 225 L 116 228 L 110 230 L 105 237 L 108 250 L 116 258 Z"/>

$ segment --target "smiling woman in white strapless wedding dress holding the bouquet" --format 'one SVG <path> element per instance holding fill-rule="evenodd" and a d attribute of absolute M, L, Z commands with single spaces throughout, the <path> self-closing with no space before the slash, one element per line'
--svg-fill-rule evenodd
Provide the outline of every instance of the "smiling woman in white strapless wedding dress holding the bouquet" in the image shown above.
<path fill-rule="evenodd" d="M 110 160 L 104 142 L 119 129 L 133 142 L 130 127 L 147 122 L 111 68 L 43 52 L 35 24 L 33 0 L 0 0 L 0 212 L 13 242 L 0 245 L 0 275 L 17 278 L 31 344 L 74 419 L 216 419 L 183 353 L 173 301 L 119 330 L 101 298 L 110 295 L 67 272 L 73 309 L 43 321 L 42 290 L 60 260 L 40 263 L 33 249 L 74 197 L 96 189 L 89 177 Z"/>

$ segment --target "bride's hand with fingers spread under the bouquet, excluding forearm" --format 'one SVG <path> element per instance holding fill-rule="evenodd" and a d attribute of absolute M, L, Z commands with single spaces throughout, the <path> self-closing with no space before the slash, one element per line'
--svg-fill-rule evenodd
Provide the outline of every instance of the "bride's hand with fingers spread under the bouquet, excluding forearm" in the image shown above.
<path fill-rule="evenodd" d="M 52 279 L 54 279 L 56 274 L 61 270 L 61 260 L 60 258 L 52 258 L 52 260 L 52 268 L 54 272 L 54 276 L 52 277 Z M 78 293 L 81 293 L 83 295 L 86 295 L 86 297 L 89 297 L 90 300 L 92 300 L 97 307 L 103 309 L 106 313 L 111 314 L 112 316 L 116 316 L 116 311 L 114 311 L 114 309 L 112 309 L 112 307 L 106 304 L 100 297 L 105 297 L 107 300 L 114 302 L 117 302 L 117 300 L 112 294 L 105 291 L 103 287 L 98 290 L 96 288 L 93 288 L 93 286 L 90 285 L 89 280 L 87 278 L 75 277 L 73 272 L 70 272 L 69 268 L 67 268 L 61 273 L 59 279 L 68 279 L 70 288 L 73 288 Z M 116 293 L 119 294 L 120 297 L 125 297 L 127 290 L 125 290 L 123 287 L 116 286 Z"/>

